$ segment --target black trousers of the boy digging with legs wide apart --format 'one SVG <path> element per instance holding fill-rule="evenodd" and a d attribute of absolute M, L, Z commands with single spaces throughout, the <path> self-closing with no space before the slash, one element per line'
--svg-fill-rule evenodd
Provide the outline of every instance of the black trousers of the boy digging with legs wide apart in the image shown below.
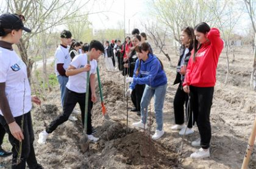
<path fill-rule="evenodd" d="M 90 89 L 89 89 L 90 90 Z M 68 117 L 74 110 L 74 107 L 76 107 L 76 103 L 79 103 L 79 107 L 81 110 L 81 116 L 82 116 L 82 123 L 84 126 L 84 111 L 85 111 L 85 97 L 86 93 L 77 93 L 70 91 L 66 87 L 66 96 L 64 99 L 64 105 L 63 105 L 63 113 L 58 115 L 45 129 L 47 133 L 52 133 L 58 126 L 63 124 L 64 122 L 68 121 Z M 87 121 L 87 135 L 92 135 L 92 95 L 89 92 L 89 103 L 88 103 L 88 121 Z"/>

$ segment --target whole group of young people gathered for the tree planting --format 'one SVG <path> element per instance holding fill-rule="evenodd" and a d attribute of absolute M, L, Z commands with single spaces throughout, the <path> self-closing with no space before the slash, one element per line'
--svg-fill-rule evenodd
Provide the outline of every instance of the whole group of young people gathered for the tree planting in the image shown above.
<path fill-rule="evenodd" d="M 29 168 L 43 168 L 35 158 L 30 114 L 31 101 L 38 105 L 41 101 L 36 96 L 31 96 L 26 64 L 12 48 L 14 43 L 19 43 L 22 30 L 31 32 L 24 27 L 24 19 L 22 15 L 10 13 L 0 16 L 0 146 L 6 132 L 13 147 L 12 152 L 6 152 L 0 147 L 0 157 L 12 154 L 12 168 L 25 168 L 26 163 Z M 194 133 L 193 125 L 196 122 L 200 138 L 192 142 L 192 145 L 201 148 L 191 154 L 191 158 L 206 158 L 210 156 L 210 112 L 216 83 L 216 66 L 223 41 L 220 31 L 209 27 L 205 22 L 194 29 L 186 27 L 180 34 L 182 45 L 174 81 L 179 86 L 173 101 L 175 125 L 172 129 L 180 130 L 180 135 L 190 135 Z M 107 70 L 118 68 L 129 84 L 127 96 L 131 96 L 134 105 L 131 111 L 140 115 L 140 121 L 132 123 L 132 126 L 148 128 L 148 105 L 154 96 L 156 132 L 152 139 L 157 140 L 164 135 L 163 107 L 168 79 L 163 63 L 153 54 L 145 33 L 134 29 L 132 37 L 127 36 L 123 44 L 120 40 L 111 41 L 110 44 L 106 41 L 105 47 L 96 40 L 90 44 L 72 40 L 72 33 L 66 30 L 61 32 L 60 39 L 60 46 L 55 52 L 55 72 L 60 84 L 63 112 L 52 119 L 39 134 L 38 143 L 46 143 L 49 134 L 70 118 L 77 103 L 84 121 L 87 80 L 90 80 L 87 135 L 93 142 L 99 140 L 93 136 L 96 131 L 92 127 L 91 110 L 97 100 L 95 74 L 98 58 L 102 54 Z M 86 79 L 86 72 L 90 73 L 90 79 Z M 185 120 L 188 121 L 187 124 Z M 18 159 L 19 146 L 22 146 L 21 160 Z"/>

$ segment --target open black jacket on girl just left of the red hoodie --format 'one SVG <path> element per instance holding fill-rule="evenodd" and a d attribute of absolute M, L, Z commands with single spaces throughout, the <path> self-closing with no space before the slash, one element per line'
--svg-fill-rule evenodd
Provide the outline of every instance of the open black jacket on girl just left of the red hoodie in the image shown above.
<path fill-rule="evenodd" d="M 184 61 L 184 64 L 185 64 L 186 66 L 188 66 L 189 57 L 191 56 L 191 51 L 192 51 L 193 47 L 189 47 L 188 49 L 189 49 L 189 52 L 188 52 L 188 54 L 186 54 L 186 56 L 185 56 L 185 61 Z M 186 50 L 186 47 L 184 47 L 184 45 L 182 45 L 182 46 L 180 47 L 180 59 L 179 59 L 178 65 L 177 65 L 177 70 L 180 70 L 180 61 L 181 61 L 181 59 L 182 59 L 182 57 L 183 57 L 183 55 L 184 55 L 185 50 Z M 176 75 L 176 78 L 175 78 L 175 80 L 174 80 L 174 82 L 173 82 L 173 85 L 179 84 L 180 82 L 183 82 L 183 81 L 184 81 L 184 78 L 185 78 L 185 77 L 182 76 L 182 80 L 181 80 L 181 75 L 180 75 L 179 72 L 177 72 L 177 75 Z"/>

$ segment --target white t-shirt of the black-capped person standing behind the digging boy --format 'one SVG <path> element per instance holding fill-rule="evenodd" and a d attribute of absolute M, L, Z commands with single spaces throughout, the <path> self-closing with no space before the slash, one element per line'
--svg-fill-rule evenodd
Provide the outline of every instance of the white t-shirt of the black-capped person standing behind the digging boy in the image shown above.
<path fill-rule="evenodd" d="M 55 52 L 55 73 L 56 75 L 60 75 L 60 73 L 58 72 L 57 70 L 57 64 L 59 63 L 62 63 L 63 64 L 63 68 L 65 70 L 68 69 L 68 66 L 71 62 L 71 57 L 69 55 L 69 52 L 68 52 L 68 48 L 65 48 L 65 47 L 62 47 L 61 45 L 56 49 L 56 52 Z"/>

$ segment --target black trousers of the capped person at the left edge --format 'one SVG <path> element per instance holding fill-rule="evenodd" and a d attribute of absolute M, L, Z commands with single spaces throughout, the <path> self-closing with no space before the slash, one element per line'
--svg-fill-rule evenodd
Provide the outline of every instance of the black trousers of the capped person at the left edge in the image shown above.
<path fill-rule="evenodd" d="M 15 117 L 14 119 L 17 122 L 17 124 L 21 126 L 22 115 L 20 115 L 19 117 Z M 24 114 L 24 121 L 23 121 L 24 140 L 22 140 L 22 151 L 20 156 L 21 160 L 19 164 L 17 164 L 17 159 L 19 154 L 20 142 L 19 140 L 14 138 L 14 136 L 12 135 L 12 133 L 10 132 L 9 126 L 2 115 L 0 115 L 0 123 L 4 127 L 6 133 L 8 133 L 9 142 L 12 144 L 12 154 L 13 154 L 12 168 L 25 169 L 26 163 L 28 164 L 29 169 L 38 168 L 38 163 L 36 161 L 35 150 L 33 146 L 33 142 L 35 138 L 34 138 L 34 131 L 32 126 L 31 113 L 28 112 L 27 114 Z"/>

